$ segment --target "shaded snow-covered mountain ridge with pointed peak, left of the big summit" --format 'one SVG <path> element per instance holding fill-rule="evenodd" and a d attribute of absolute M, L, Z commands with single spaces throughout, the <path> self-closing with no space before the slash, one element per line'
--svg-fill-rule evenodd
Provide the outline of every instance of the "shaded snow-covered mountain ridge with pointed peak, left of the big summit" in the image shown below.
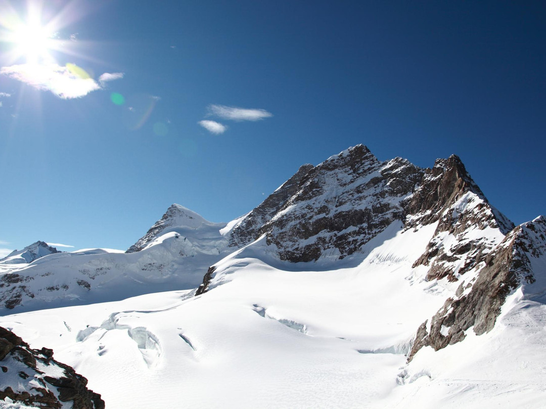
<path fill-rule="evenodd" d="M 84 249 L 10 266 L 0 276 L 0 313 L 195 288 L 207 268 L 231 251 L 225 226 L 175 204 L 127 253 Z"/>

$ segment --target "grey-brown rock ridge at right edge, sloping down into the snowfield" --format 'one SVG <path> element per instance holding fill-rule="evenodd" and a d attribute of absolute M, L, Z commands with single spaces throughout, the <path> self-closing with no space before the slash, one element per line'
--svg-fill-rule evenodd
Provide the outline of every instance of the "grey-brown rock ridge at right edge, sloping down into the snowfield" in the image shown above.
<path fill-rule="evenodd" d="M 521 287 L 524 297 L 544 302 L 546 295 L 546 218 L 515 227 L 483 260 L 479 272 L 434 317 L 420 325 L 409 360 L 425 346 L 435 350 L 490 331 L 506 297 Z M 447 333 L 446 333 L 447 331 Z"/>

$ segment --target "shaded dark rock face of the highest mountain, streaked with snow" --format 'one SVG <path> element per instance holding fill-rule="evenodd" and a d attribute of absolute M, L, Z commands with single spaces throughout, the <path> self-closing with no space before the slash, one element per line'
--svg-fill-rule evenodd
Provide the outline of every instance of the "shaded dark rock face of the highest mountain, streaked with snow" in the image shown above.
<path fill-rule="evenodd" d="M 405 159 L 381 162 L 357 145 L 316 167 L 302 166 L 258 206 L 259 218 L 251 212 L 241 221 L 232 242 L 247 244 L 265 234 L 282 260 L 345 258 L 403 219 L 402 200 L 422 175 Z"/>

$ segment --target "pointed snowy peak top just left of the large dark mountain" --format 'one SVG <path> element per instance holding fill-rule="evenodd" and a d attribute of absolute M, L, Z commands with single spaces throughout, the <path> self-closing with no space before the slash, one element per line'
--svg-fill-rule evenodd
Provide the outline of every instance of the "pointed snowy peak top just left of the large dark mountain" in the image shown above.
<path fill-rule="evenodd" d="M 171 205 L 163 217 L 156 221 L 150 227 L 150 230 L 141 237 L 133 246 L 129 247 L 127 253 L 139 252 L 147 245 L 152 243 L 156 238 L 165 233 L 177 231 L 180 229 L 201 229 L 203 227 L 217 229 L 218 231 L 225 227 L 225 223 L 211 223 L 203 218 L 200 214 L 191 211 L 190 209 L 177 205 Z"/>

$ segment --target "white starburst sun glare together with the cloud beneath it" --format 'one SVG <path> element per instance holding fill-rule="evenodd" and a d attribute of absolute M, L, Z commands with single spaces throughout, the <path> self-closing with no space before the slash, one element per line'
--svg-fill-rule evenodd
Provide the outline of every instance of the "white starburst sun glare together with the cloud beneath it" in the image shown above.
<path fill-rule="evenodd" d="M 63 99 L 80 98 L 123 77 L 123 73 L 104 73 L 94 79 L 92 67 L 75 63 L 75 59 L 95 61 L 84 55 L 74 33 L 61 33 L 85 13 L 80 3 L 72 1 L 55 10 L 46 8 L 50 3 L 29 1 L 24 15 L 13 4 L 0 0 L 0 74 Z"/>

